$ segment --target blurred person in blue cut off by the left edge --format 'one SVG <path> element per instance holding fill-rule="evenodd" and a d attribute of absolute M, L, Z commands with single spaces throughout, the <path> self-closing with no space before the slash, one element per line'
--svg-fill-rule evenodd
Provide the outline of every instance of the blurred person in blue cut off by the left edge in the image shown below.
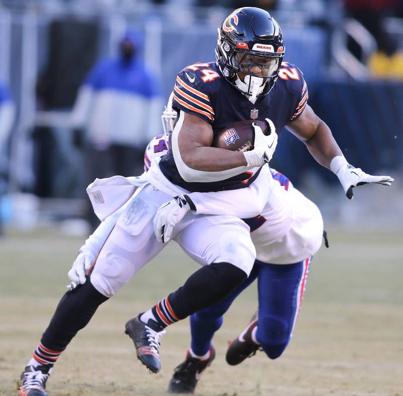
<path fill-rule="evenodd" d="M 14 102 L 0 81 L 0 234 L 2 223 L 6 217 L 7 186 L 9 173 L 9 147 L 11 130 L 14 124 Z"/>

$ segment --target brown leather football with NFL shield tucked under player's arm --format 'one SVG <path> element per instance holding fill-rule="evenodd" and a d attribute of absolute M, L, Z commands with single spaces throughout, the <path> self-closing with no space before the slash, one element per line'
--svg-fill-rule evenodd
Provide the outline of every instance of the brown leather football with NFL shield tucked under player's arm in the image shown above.
<path fill-rule="evenodd" d="M 270 130 L 267 121 L 245 120 L 234 122 L 222 129 L 213 139 L 212 147 L 232 151 L 249 151 L 253 149 L 255 131 L 252 123 L 256 122 L 266 135 Z"/>

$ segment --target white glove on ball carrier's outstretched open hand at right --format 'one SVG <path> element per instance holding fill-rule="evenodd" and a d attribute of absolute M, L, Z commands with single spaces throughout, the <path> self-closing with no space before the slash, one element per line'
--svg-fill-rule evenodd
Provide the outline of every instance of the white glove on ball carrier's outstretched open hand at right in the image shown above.
<path fill-rule="evenodd" d="M 330 162 L 330 170 L 339 178 L 344 192 L 349 200 L 353 199 L 353 187 L 368 183 L 390 185 L 394 180 L 390 176 L 373 176 L 365 173 L 361 168 L 350 165 L 342 156 L 334 157 Z"/>

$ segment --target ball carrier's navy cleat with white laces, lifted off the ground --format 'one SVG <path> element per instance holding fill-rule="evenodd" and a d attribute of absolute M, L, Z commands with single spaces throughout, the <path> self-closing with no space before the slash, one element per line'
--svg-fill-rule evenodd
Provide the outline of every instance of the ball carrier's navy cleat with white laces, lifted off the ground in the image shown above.
<path fill-rule="evenodd" d="M 146 324 L 140 316 L 126 323 L 125 333 L 135 344 L 137 358 L 153 373 L 158 373 L 161 370 L 160 343 L 166 332 L 155 320 L 149 319 Z"/>

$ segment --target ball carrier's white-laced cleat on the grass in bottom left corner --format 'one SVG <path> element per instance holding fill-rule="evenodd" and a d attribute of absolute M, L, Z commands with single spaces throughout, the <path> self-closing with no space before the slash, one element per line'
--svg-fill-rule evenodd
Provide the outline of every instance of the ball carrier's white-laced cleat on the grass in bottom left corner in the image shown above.
<path fill-rule="evenodd" d="M 20 396 L 48 396 L 45 386 L 50 371 L 47 366 L 25 367 L 17 385 L 18 394 Z"/>

